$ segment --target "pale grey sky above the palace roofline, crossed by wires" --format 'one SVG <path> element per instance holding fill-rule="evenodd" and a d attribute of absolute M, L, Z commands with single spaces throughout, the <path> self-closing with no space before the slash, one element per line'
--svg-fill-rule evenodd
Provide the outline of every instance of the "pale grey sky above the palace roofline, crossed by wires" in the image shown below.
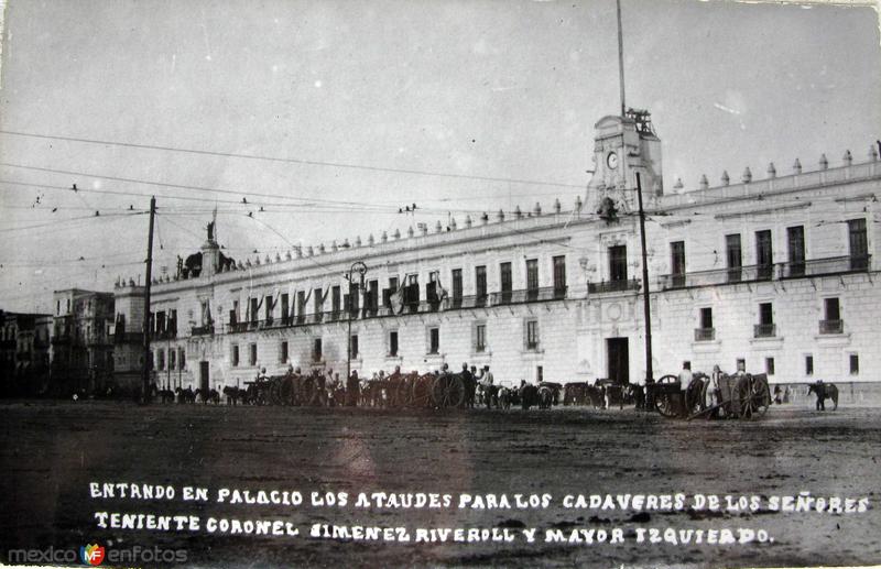
<path fill-rule="evenodd" d="M 652 112 L 667 192 L 861 162 L 881 138 L 872 8 L 621 4 L 627 103 Z M 570 208 L 620 108 L 613 0 L 9 0 L 2 48 L 12 310 L 143 275 L 151 195 L 154 274 L 215 208 L 236 259 Z"/>

